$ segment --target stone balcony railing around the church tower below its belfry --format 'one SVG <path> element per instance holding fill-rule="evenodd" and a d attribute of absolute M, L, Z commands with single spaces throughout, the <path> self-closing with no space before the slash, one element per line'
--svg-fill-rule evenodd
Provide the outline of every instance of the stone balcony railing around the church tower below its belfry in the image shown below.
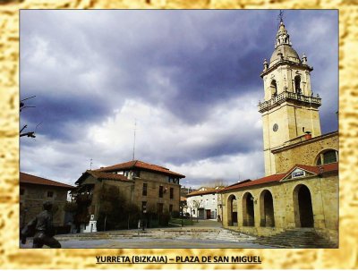
<path fill-rule="evenodd" d="M 288 99 L 301 101 L 303 103 L 308 103 L 308 104 L 314 104 L 316 106 L 321 105 L 320 97 L 310 97 L 310 96 L 304 96 L 302 94 L 298 94 L 298 93 L 294 93 L 294 92 L 284 91 L 284 92 L 278 94 L 276 97 L 269 99 L 268 101 L 259 103 L 259 112 L 262 113 L 268 109 L 271 109 L 274 106 L 276 106 L 277 104 L 281 104 Z"/>

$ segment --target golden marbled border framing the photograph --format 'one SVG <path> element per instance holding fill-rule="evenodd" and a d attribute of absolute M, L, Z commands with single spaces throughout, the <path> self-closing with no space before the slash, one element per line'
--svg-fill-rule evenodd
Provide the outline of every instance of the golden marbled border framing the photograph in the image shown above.
<path fill-rule="evenodd" d="M 261 265 L 124 265 L 133 269 L 289 269 L 358 267 L 358 1 L 357 0 L 1 0 L 0 1 L 0 269 L 98 268 L 98 255 L 165 255 L 179 250 L 19 250 L 19 9 L 339 9 L 340 242 L 338 250 L 180 250 L 190 255 L 259 255 Z M 329 56 L 328 56 L 329 57 Z M 102 265 L 100 268 L 118 268 Z"/>

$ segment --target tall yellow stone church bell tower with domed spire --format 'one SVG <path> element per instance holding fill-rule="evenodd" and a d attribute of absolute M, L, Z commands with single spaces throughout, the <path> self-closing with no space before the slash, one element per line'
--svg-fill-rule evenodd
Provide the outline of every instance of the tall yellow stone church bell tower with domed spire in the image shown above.
<path fill-rule="evenodd" d="M 320 136 L 319 107 L 321 99 L 313 97 L 311 71 L 307 56 L 302 59 L 292 47 L 284 22 L 280 21 L 275 50 L 269 64 L 265 59 L 263 79 L 265 97 L 259 103 L 262 114 L 265 174 L 276 174 L 276 148 L 288 146 L 304 139 Z M 307 136 L 306 136 L 307 137 Z"/>

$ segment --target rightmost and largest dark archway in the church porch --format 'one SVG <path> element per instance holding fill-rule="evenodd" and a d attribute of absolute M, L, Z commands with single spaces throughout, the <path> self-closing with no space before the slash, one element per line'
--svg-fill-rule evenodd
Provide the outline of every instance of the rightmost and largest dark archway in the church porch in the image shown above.
<path fill-rule="evenodd" d="M 312 228 L 314 226 L 311 192 L 303 184 L 294 188 L 294 222 L 296 227 Z"/>

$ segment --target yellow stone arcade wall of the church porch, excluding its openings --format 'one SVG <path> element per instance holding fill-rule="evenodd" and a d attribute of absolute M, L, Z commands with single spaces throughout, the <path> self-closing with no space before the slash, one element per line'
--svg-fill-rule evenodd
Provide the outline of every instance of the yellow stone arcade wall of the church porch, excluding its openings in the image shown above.
<path fill-rule="evenodd" d="M 326 234 L 331 241 L 337 243 L 338 229 L 338 176 L 326 175 L 308 176 L 297 180 L 287 180 L 282 182 L 272 182 L 260 184 L 237 191 L 227 191 L 223 194 L 223 224 L 243 233 L 255 235 L 271 235 L 280 233 L 286 229 L 300 227 L 299 210 L 297 202 L 294 202 L 294 193 L 300 187 L 306 186 L 311 193 L 311 205 L 313 211 L 314 228 L 320 233 Z M 263 199 L 262 192 L 269 191 L 273 198 L 274 227 L 261 226 L 263 218 Z M 250 193 L 253 198 L 254 225 L 245 226 L 244 198 L 245 194 Z M 237 202 L 237 221 L 233 227 L 230 221 L 230 202 L 229 197 L 234 195 Z M 249 195 L 250 196 L 250 195 Z M 298 220 L 298 221 L 297 221 Z"/>

